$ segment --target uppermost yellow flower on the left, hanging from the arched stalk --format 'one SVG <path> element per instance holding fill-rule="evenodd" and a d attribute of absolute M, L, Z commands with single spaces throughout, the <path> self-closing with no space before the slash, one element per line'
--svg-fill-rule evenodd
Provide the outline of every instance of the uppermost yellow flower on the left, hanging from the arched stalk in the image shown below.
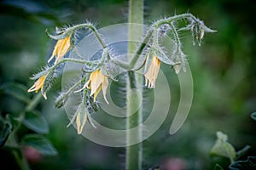
<path fill-rule="evenodd" d="M 67 51 L 70 48 L 70 36 L 65 37 L 64 39 L 58 40 L 58 42 L 55 45 L 55 49 L 51 55 L 51 57 L 48 59 L 48 62 L 51 61 L 56 56 L 55 64 L 59 62 L 62 57 L 67 54 Z"/>

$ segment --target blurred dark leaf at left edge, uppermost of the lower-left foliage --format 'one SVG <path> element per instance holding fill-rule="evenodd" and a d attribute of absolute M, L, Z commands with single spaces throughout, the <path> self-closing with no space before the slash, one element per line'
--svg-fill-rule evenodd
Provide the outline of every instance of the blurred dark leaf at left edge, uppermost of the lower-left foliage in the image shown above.
<path fill-rule="evenodd" d="M 9 94 L 15 97 L 15 99 L 19 99 L 25 103 L 29 103 L 30 101 L 30 94 L 27 93 L 27 88 L 23 84 L 8 82 L 3 84 L 3 86 L 0 87 L 0 90 L 3 90 L 4 94 Z"/>

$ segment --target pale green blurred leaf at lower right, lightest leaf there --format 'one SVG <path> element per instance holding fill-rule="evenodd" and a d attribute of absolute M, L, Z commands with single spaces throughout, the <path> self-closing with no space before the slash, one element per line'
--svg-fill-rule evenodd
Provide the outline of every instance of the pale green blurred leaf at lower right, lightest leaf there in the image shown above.
<path fill-rule="evenodd" d="M 222 132 L 217 132 L 218 139 L 212 146 L 210 151 L 211 155 L 224 156 L 230 158 L 230 161 L 234 161 L 236 158 L 236 150 L 228 143 L 228 136 Z"/>

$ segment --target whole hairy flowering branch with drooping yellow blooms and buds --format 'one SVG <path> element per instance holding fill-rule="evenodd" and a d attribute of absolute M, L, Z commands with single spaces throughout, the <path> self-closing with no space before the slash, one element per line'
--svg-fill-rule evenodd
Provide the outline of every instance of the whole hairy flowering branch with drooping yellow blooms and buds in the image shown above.
<path fill-rule="evenodd" d="M 184 26 L 183 28 L 177 28 L 177 26 L 179 26 L 177 25 L 179 20 L 187 20 L 189 25 Z M 102 57 L 100 59 L 93 61 L 85 60 L 84 57 L 75 49 L 74 43 L 76 41 L 74 35 L 80 28 L 89 29 L 102 45 L 103 50 Z M 76 122 L 76 127 L 80 134 L 83 131 L 87 118 L 90 120 L 90 112 L 96 111 L 95 109 L 90 110 L 89 108 L 98 107 L 97 105 L 95 107 L 96 98 L 101 91 L 103 98 L 108 104 L 108 78 L 114 77 L 111 74 L 111 69 L 113 68 L 109 68 L 109 65 L 111 65 L 110 67 L 122 68 L 126 71 L 135 71 L 138 70 L 135 69 L 137 61 L 143 58 L 143 65 L 139 68 L 144 67 L 145 86 L 148 88 L 155 88 L 155 82 L 160 71 L 161 63 L 172 65 L 177 74 L 181 68 L 185 71 L 186 58 L 182 51 L 182 43 L 180 42 L 178 31 L 186 30 L 191 31 L 194 42 L 198 42 L 199 45 L 201 44 L 201 40 L 204 37 L 205 32 L 214 32 L 207 28 L 201 20 L 198 20 L 192 14 L 181 14 L 163 20 L 158 20 L 149 27 L 148 32 L 143 38 L 143 42 L 139 44 L 137 51 L 132 58 L 130 60 L 128 59 L 129 61 L 124 62 L 123 60 L 116 59 L 115 56 L 113 56 L 114 54 L 112 54 L 111 50 L 108 49 L 108 44 L 104 42 L 102 35 L 99 34 L 96 27 L 91 23 L 70 26 L 61 30 L 58 29 L 55 36 L 48 34 L 49 37 L 57 40 L 55 48 L 48 60 L 48 64 L 51 66 L 46 67 L 44 71 L 39 72 L 33 77 L 33 79 L 37 79 L 37 81 L 27 91 L 35 91 L 38 93 L 38 90 L 41 90 L 44 99 L 47 99 L 46 91 L 49 89 L 53 77 L 56 74 L 55 69 L 61 65 L 61 63 L 74 62 L 83 64 L 85 76 L 82 76 L 79 82 L 75 83 L 67 90 L 67 92 L 62 93 L 55 101 L 55 106 L 60 108 L 65 105 L 68 95 L 71 92 L 81 92 L 83 96 L 81 105 L 77 108 L 73 115 L 73 119 L 70 122 L 70 124 Z M 172 34 L 171 37 L 174 42 L 173 47 L 169 49 L 171 51 L 171 55 L 166 54 L 165 50 L 160 47 L 160 40 L 163 37 L 166 37 L 168 32 Z M 77 54 L 81 59 L 64 58 L 64 56 L 71 50 L 73 50 L 73 53 Z M 54 64 L 51 64 L 53 59 L 55 59 L 55 62 Z M 81 74 L 84 75 L 84 72 Z M 81 84 L 83 84 L 83 88 L 78 90 L 78 87 Z"/>

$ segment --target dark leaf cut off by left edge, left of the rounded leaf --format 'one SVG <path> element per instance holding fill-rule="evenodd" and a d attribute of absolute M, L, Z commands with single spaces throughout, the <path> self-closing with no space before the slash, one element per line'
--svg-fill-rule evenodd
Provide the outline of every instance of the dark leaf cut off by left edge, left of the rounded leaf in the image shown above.
<path fill-rule="evenodd" d="M 0 116 L 0 148 L 5 144 L 11 132 L 11 123 L 3 119 L 2 116 Z"/>

